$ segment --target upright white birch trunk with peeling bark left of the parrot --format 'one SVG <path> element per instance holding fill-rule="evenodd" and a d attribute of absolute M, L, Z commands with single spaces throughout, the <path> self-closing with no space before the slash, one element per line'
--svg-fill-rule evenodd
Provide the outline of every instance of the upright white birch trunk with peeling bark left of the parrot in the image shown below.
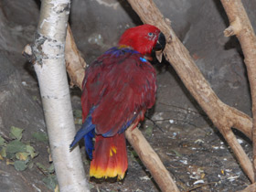
<path fill-rule="evenodd" d="M 64 58 L 69 6 L 69 0 L 42 0 L 33 53 L 60 191 L 80 192 L 90 190 L 79 147 L 69 151 L 75 135 Z"/>

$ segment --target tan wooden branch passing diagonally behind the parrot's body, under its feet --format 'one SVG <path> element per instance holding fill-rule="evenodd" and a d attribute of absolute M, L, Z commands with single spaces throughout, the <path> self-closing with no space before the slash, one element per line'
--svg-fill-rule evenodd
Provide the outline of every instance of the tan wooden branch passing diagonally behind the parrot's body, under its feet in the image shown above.
<path fill-rule="evenodd" d="M 81 89 L 85 62 L 80 57 L 80 52 L 76 47 L 70 28 L 68 28 L 66 38 L 65 59 L 68 65 L 67 71 L 70 80 Z M 133 127 L 133 125 L 131 127 Z M 179 190 L 172 177 L 169 175 L 169 172 L 166 170 L 165 165 L 163 165 L 159 156 L 155 154 L 150 144 L 147 143 L 143 133 L 141 133 L 138 128 L 132 130 L 131 127 L 125 131 L 125 136 L 154 177 L 155 182 L 162 191 L 178 192 Z"/>

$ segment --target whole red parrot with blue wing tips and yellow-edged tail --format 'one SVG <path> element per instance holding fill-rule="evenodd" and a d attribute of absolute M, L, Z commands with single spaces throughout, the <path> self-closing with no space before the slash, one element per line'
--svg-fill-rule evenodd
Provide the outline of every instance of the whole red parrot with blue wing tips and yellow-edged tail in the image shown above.
<path fill-rule="evenodd" d="M 153 50 L 164 48 L 165 36 L 157 27 L 132 27 L 123 33 L 117 47 L 86 69 L 81 95 L 83 124 L 70 148 L 84 138 L 91 158 L 90 176 L 123 179 L 128 166 L 124 131 L 143 121 L 144 112 L 155 104 L 156 74 L 147 59 Z"/>

